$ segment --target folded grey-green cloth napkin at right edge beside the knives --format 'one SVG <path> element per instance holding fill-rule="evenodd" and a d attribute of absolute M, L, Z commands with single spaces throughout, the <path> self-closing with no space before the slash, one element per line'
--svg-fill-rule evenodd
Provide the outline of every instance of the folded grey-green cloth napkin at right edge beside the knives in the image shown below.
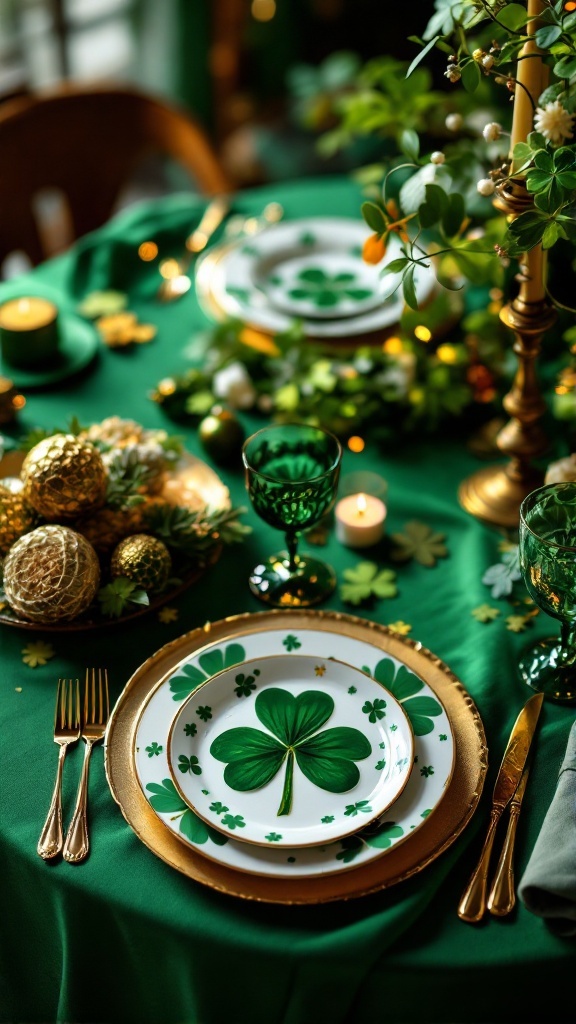
<path fill-rule="evenodd" d="M 576 935 L 576 721 L 519 894 L 556 935 Z"/>

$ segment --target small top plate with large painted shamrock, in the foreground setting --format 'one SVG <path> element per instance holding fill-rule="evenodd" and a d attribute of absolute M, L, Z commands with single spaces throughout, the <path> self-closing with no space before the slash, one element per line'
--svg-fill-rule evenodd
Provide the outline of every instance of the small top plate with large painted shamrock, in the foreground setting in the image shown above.
<path fill-rule="evenodd" d="M 186 672 L 186 669 L 184 669 Z M 302 847 L 368 825 L 414 756 L 393 694 L 342 662 L 280 654 L 213 676 L 175 715 L 168 764 L 182 799 L 247 843 Z"/>

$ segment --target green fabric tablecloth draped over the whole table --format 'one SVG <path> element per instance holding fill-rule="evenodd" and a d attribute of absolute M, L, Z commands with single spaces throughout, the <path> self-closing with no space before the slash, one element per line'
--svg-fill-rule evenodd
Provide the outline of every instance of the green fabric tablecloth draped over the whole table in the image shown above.
<path fill-rule="evenodd" d="M 237 200 L 258 211 L 280 200 L 286 217 L 358 216 L 351 182 L 325 179 L 258 188 Z M 83 375 L 46 391 L 30 392 L 19 427 L 84 422 L 119 414 L 147 427 L 183 433 L 205 458 L 196 429 L 174 429 L 149 398 L 158 380 L 184 369 L 195 332 L 207 321 L 191 292 L 172 305 L 154 299 L 157 272 L 135 246 L 153 238 L 177 254 L 196 222 L 199 201 L 173 197 L 124 213 L 66 256 L 35 272 L 35 284 L 58 290 L 74 304 L 88 291 L 114 287 L 130 294 L 130 308 L 158 325 L 158 337 L 131 352 L 100 347 Z M 9 287 L 0 290 L 0 298 Z M 247 429 L 257 425 L 244 418 Z M 10 1022 L 133 1022 L 133 1024 L 352 1024 L 395 1022 L 540 1022 L 568 1020 L 574 945 L 550 935 L 523 905 L 508 919 L 472 927 L 456 906 L 480 852 L 496 770 L 516 716 L 528 693 L 517 664 L 527 634 L 490 625 L 472 608 L 489 600 L 481 578 L 499 560 L 498 536 L 464 513 L 459 481 L 478 468 L 463 439 L 367 444 L 344 455 L 343 472 L 371 469 L 388 481 L 388 528 L 419 518 L 445 532 L 450 557 L 435 568 L 415 562 L 399 570 L 399 596 L 361 610 L 379 622 L 403 620 L 411 637 L 438 654 L 468 689 L 483 718 L 490 767 L 479 809 L 464 833 L 421 873 L 379 894 L 320 906 L 276 906 L 222 896 L 189 881 L 156 858 L 113 802 L 94 749 L 90 775 L 92 850 L 72 867 L 43 862 L 36 853 L 55 769 L 51 739 L 55 681 L 85 666 L 109 667 L 116 698 L 132 672 L 180 634 L 261 605 L 246 579 L 254 559 L 278 537 L 249 511 L 256 528 L 242 546 L 224 551 L 200 584 L 178 599 L 177 622 L 157 614 L 119 629 L 87 634 L 43 634 L 0 627 L 2 673 L 1 882 L 2 995 Z M 240 472 L 219 470 L 235 504 L 244 504 Z M 326 557 L 338 573 L 360 559 L 331 537 Z M 233 583 L 231 583 L 231 581 Z M 329 609 L 351 611 L 334 595 Z M 530 631 L 550 630 L 540 615 Z M 23 663 L 31 640 L 52 643 L 55 656 L 32 669 Z M 553 795 L 573 715 L 545 705 L 519 828 L 517 871 L 524 869 Z M 74 800 L 82 750 L 69 755 L 65 807 Z M 571 998 L 573 996 L 571 995 Z"/>

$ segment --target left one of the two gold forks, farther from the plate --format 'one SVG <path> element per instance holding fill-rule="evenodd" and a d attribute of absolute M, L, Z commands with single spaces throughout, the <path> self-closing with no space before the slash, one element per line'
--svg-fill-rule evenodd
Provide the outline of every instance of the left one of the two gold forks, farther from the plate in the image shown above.
<path fill-rule="evenodd" d="M 61 827 L 61 776 L 68 748 L 80 738 L 80 680 L 76 680 L 76 694 L 72 679 L 58 679 L 54 710 L 54 743 L 59 746 L 56 781 L 44 827 L 38 840 L 37 851 L 44 860 L 55 857 L 63 847 Z M 76 696 L 76 699 L 74 697 Z"/>

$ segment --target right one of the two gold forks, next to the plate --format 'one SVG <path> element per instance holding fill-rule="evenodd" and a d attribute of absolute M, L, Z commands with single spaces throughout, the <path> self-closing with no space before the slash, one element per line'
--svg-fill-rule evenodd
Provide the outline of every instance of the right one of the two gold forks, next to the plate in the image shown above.
<path fill-rule="evenodd" d="M 88 769 L 92 746 L 104 739 L 108 717 L 110 715 L 110 698 L 108 692 L 108 672 L 98 669 L 96 686 L 96 670 L 86 669 L 84 684 L 84 711 L 82 715 L 82 739 L 86 743 L 82 775 L 78 786 L 76 807 L 66 836 L 63 856 L 65 860 L 78 864 L 88 855 L 90 842 L 88 839 Z"/>

